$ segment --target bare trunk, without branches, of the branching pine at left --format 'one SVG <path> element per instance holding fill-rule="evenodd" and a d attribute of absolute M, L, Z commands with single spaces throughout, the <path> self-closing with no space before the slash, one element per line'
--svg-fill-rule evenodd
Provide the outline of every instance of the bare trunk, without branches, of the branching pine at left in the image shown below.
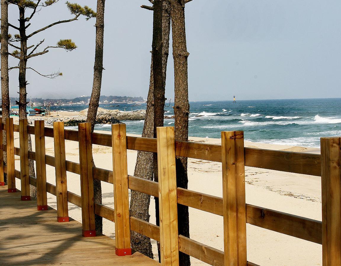
<path fill-rule="evenodd" d="M 27 67 L 27 36 L 25 27 L 25 7 L 19 6 L 19 33 L 20 33 L 20 59 L 19 59 L 19 119 L 27 119 L 26 105 L 26 67 Z M 28 134 L 28 150 L 32 151 L 31 135 Z M 29 174 L 35 176 L 34 162 L 29 160 Z M 31 199 L 36 199 L 37 189 L 30 185 Z"/>

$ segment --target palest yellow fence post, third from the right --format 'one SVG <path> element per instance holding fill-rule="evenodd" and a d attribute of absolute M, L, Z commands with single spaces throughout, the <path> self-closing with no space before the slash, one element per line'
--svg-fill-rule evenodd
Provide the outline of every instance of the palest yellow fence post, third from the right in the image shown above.
<path fill-rule="evenodd" d="M 174 127 L 157 127 L 161 265 L 179 265 Z"/>

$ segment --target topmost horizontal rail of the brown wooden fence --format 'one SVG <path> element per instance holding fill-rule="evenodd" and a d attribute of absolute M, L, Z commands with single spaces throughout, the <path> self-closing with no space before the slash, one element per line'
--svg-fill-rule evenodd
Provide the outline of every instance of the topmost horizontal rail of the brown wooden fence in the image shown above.
<path fill-rule="evenodd" d="M 14 125 L 19 132 L 19 126 Z M 34 127 L 28 132 L 34 134 Z M 53 128 L 45 127 L 45 136 L 53 137 Z M 92 133 L 92 144 L 111 147 L 111 135 Z M 78 132 L 65 129 L 65 140 L 78 141 Z M 127 149 L 145 152 L 157 152 L 157 140 L 153 138 L 127 136 Z M 188 141 L 175 141 L 175 155 L 221 162 L 221 145 Z M 259 148 L 244 148 L 245 166 L 321 176 L 321 155 L 287 151 L 273 151 Z"/>

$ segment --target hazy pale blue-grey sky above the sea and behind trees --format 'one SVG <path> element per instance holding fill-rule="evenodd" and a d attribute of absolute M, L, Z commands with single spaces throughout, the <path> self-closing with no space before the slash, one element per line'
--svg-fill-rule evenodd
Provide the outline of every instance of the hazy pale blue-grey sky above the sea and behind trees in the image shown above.
<path fill-rule="evenodd" d="M 71 1 L 74 2 L 74 1 Z M 96 8 L 95 0 L 79 4 Z M 152 11 L 147 0 L 106 1 L 102 95 L 147 97 L 152 40 Z M 341 97 L 341 2 L 339 0 L 193 0 L 186 4 L 190 100 Z M 9 18 L 17 25 L 18 11 Z M 42 9 L 28 33 L 72 18 L 65 1 Z M 35 35 L 45 46 L 72 38 L 71 52 L 49 49 L 28 61 L 47 74 L 27 71 L 28 97 L 72 98 L 92 89 L 95 20 L 79 18 Z M 10 28 L 10 33 L 16 33 Z M 40 50 L 43 50 L 42 46 Z M 170 48 L 171 49 L 171 48 Z M 12 50 L 12 49 L 10 49 Z M 172 52 L 166 97 L 174 98 Z M 13 66 L 15 60 L 10 59 Z M 17 97 L 18 72 L 10 72 L 10 96 Z"/>

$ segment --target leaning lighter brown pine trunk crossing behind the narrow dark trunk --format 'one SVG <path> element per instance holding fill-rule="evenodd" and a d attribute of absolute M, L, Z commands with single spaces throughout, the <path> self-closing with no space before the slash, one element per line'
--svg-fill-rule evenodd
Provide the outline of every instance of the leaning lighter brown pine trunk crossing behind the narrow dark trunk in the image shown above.
<path fill-rule="evenodd" d="M 160 4 L 157 3 L 157 4 Z M 154 2 L 155 6 L 155 2 Z M 161 5 L 159 5 L 160 8 Z M 160 12 L 160 10 L 158 10 Z M 160 15 L 160 14 L 159 14 Z M 160 19 L 160 16 L 158 17 Z M 154 28 L 153 28 L 154 30 Z M 160 29 L 159 29 L 160 30 Z M 162 105 L 159 104 L 159 122 L 163 126 L 163 117 L 164 117 L 164 90 L 166 84 L 166 69 L 167 69 L 167 60 L 169 53 L 169 32 L 170 32 L 170 15 L 169 15 L 169 3 L 167 1 L 162 1 L 162 77 L 163 77 L 163 93 L 161 90 L 161 96 L 159 96 L 162 101 Z M 149 91 L 147 98 L 147 111 L 146 118 L 143 127 L 142 137 L 153 138 L 154 137 L 154 75 L 153 75 L 153 51 L 151 56 L 151 65 L 150 65 L 150 83 L 149 83 Z M 160 74 L 159 74 L 160 75 Z M 156 131 L 155 131 L 156 132 Z M 154 162 L 156 164 L 154 165 Z M 156 170 L 155 170 L 156 169 Z M 154 181 L 158 181 L 158 169 L 157 169 L 157 159 L 154 160 L 153 153 L 142 152 L 139 151 L 137 153 L 137 160 L 134 175 L 145 178 L 148 180 L 152 180 L 154 176 Z M 155 198 L 155 207 L 157 207 L 157 224 L 159 224 L 159 214 L 158 214 L 158 198 Z M 149 203 L 150 203 L 150 195 L 138 192 L 131 191 L 131 201 L 130 201 L 130 215 L 137 217 L 139 219 L 143 219 L 145 221 L 149 221 Z M 131 243 L 132 248 L 145 254 L 146 256 L 153 257 L 153 253 L 151 250 L 150 238 L 138 234 L 134 231 L 131 231 Z"/>

